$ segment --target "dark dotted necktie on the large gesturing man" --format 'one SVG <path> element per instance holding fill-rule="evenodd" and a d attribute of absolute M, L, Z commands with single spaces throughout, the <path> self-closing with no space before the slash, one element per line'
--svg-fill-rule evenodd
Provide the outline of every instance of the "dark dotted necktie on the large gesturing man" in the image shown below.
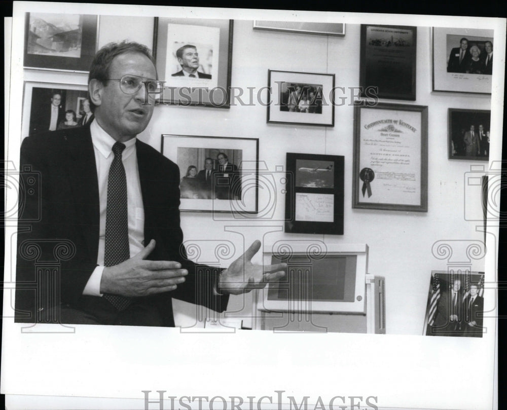
<path fill-rule="evenodd" d="M 122 162 L 125 145 L 113 145 L 115 158 L 109 168 L 107 180 L 107 208 L 105 216 L 104 266 L 118 265 L 130 258 L 128 243 L 127 178 Z M 117 310 L 127 309 L 132 300 L 128 297 L 104 293 L 104 299 Z"/>

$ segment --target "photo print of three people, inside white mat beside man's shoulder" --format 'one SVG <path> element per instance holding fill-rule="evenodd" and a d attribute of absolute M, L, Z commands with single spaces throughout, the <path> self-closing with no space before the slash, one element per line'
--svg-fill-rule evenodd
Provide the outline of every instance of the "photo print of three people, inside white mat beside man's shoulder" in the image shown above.
<path fill-rule="evenodd" d="M 180 197 L 240 200 L 242 156 L 242 150 L 178 147 Z"/>

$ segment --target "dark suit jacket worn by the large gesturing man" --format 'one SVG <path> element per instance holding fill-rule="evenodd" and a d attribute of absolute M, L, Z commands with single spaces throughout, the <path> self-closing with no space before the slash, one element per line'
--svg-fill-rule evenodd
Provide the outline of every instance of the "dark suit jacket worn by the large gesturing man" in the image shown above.
<path fill-rule="evenodd" d="M 175 291 L 144 299 L 163 312 L 165 326 L 174 326 L 171 297 L 224 311 L 228 296 L 213 295 L 220 270 L 206 267 L 201 269 L 206 274 L 198 274 L 182 245 L 177 165 L 139 140 L 136 153 L 144 243 L 157 241 L 149 258 L 177 260 L 189 271 L 186 282 Z M 79 309 L 83 298 L 93 297 L 82 295 L 97 265 L 99 237 L 98 179 L 90 126 L 25 138 L 20 169 L 24 166 L 31 166 L 31 171 L 21 175 L 20 185 L 29 183 L 29 176 L 35 174 L 40 189 L 35 184 L 35 193 L 25 195 L 20 206 L 15 307 L 16 321 L 33 323 L 35 312 L 58 303 Z M 51 281 L 52 277 L 56 279 Z"/>

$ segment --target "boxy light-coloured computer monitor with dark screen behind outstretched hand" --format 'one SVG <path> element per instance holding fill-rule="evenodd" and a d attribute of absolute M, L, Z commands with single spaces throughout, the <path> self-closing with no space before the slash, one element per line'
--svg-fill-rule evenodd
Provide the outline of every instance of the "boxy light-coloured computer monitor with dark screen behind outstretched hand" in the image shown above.
<path fill-rule="evenodd" d="M 274 312 L 365 314 L 368 245 L 278 241 L 264 263 L 287 264 L 287 274 L 260 291 L 258 308 Z"/>

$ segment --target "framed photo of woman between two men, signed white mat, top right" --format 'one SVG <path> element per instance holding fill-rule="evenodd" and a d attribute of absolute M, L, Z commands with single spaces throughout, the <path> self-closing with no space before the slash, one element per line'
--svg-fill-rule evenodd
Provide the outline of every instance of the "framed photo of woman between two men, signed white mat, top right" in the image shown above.
<path fill-rule="evenodd" d="M 493 30 L 433 27 L 433 91 L 491 94 Z"/>

